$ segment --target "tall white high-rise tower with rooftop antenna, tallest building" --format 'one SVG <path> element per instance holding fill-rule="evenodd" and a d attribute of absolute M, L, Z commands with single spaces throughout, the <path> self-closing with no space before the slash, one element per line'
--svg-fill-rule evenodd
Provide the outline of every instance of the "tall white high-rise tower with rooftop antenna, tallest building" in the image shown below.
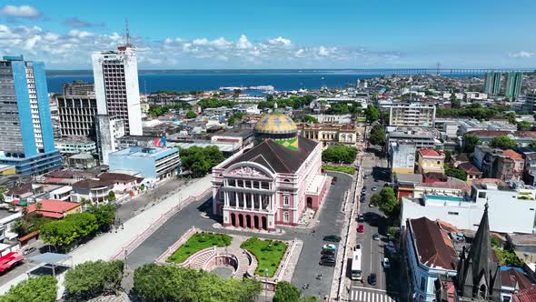
<path fill-rule="evenodd" d="M 96 52 L 92 58 L 98 114 L 123 119 L 126 134 L 141 136 L 142 111 L 134 46 L 127 41 L 116 51 Z"/>

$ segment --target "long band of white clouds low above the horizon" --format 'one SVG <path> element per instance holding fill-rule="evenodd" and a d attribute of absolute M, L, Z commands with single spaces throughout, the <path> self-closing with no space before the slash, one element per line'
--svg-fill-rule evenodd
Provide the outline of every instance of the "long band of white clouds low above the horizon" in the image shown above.
<path fill-rule="evenodd" d="M 124 36 L 114 32 L 97 34 L 74 28 L 61 33 L 38 26 L 0 25 L 0 56 L 23 54 L 53 69 L 91 68 L 92 52 L 113 50 L 122 43 Z M 245 35 L 235 41 L 223 36 L 213 40 L 133 36 L 132 43 L 141 68 L 348 67 L 361 62 L 397 62 L 399 57 L 390 52 L 367 52 L 362 47 L 296 45 L 282 36 L 254 43 Z"/>

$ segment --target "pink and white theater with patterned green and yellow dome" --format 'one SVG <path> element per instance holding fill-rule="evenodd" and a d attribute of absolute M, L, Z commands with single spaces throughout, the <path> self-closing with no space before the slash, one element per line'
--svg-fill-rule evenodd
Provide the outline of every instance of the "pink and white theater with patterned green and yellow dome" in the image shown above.
<path fill-rule="evenodd" d="M 263 116 L 255 145 L 213 167 L 213 213 L 224 227 L 275 230 L 296 226 L 318 209 L 328 186 L 321 172 L 322 143 L 298 136 L 292 118 Z"/>

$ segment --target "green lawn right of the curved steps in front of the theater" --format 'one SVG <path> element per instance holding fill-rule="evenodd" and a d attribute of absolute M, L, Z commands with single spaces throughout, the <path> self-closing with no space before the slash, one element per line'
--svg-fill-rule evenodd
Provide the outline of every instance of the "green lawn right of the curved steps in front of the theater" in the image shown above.
<path fill-rule="evenodd" d="M 251 237 L 244 241 L 240 247 L 248 250 L 257 258 L 259 265 L 255 270 L 255 274 L 264 277 L 264 268 L 268 267 L 268 277 L 273 277 L 287 245 L 281 241 L 261 240 L 257 237 Z"/>

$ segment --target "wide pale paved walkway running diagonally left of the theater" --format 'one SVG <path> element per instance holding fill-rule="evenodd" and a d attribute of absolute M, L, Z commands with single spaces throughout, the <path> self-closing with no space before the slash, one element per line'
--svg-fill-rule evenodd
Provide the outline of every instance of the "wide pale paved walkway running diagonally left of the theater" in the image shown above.
<path fill-rule="evenodd" d="M 188 196 L 197 196 L 212 186 L 212 175 L 191 181 L 187 186 L 173 195 L 168 196 L 163 201 L 147 208 L 139 215 L 124 222 L 124 229 L 119 229 L 117 233 L 105 233 L 95 237 L 93 240 L 76 248 L 69 253 L 73 257 L 73 264 L 77 265 L 89 260 L 109 260 L 114 257 L 123 247 L 128 245 L 135 237 L 142 234 L 147 227 L 156 221 L 173 206 L 181 204 Z M 15 279 L 0 287 L 0 294 L 4 294 L 12 285 L 25 280 L 25 274 L 15 277 Z M 60 285 L 63 287 L 63 284 Z"/>

